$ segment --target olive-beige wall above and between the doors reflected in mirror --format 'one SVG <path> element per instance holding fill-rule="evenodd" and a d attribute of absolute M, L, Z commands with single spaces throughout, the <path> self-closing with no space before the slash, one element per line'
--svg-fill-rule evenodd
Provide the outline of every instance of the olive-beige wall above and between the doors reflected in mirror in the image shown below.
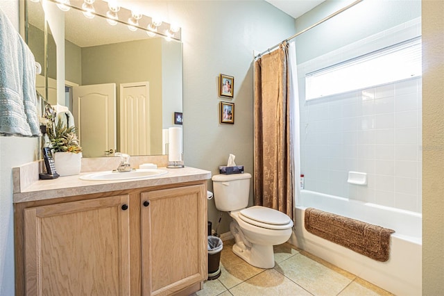
<path fill-rule="evenodd" d="M 162 143 L 162 39 L 153 38 L 82 49 L 82 85 L 117 84 L 117 149 L 119 149 L 120 84 L 148 81 L 151 139 Z M 157 151 L 159 150 L 159 151 Z M 152 154 L 162 154 L 155 145 Z"/>

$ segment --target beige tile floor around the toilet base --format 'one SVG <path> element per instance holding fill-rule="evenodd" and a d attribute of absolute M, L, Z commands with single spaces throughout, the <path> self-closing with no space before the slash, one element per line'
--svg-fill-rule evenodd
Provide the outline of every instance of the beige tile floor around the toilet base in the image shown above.
<path fill-rule="evenodd" d="M 205 281 L 201 295 L 392 295 L 350 272 L 285 243 L 275 246 L 275 267 L 255 268 L 232 252 L 232 240 L 223 242 L 221 276 Z"/>

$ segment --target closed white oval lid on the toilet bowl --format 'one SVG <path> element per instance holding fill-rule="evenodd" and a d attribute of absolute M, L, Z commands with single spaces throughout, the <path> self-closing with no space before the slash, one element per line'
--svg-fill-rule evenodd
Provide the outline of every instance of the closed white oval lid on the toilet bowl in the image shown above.
<path fill-rule="evenodd" d="M 239 218 L 247 223 L 268 229 L 288 229 L 293 226 L 290 217 L 273 208 L 251 206 L 239 212 Z"/>

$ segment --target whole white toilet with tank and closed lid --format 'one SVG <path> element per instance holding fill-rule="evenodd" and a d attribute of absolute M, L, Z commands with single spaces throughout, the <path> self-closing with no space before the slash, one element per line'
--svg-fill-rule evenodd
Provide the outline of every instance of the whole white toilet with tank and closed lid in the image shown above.
<path fill-rule="evenodd" d="M 219 211 L 233 218 L 233 252 L 257 268 L 273 268 L 273 245 L 287 242 L 293 221 L 280 211 L 264 206 L 248 206 L 251 174 L 216 174 L 212 176 L 214 202 Z"/>

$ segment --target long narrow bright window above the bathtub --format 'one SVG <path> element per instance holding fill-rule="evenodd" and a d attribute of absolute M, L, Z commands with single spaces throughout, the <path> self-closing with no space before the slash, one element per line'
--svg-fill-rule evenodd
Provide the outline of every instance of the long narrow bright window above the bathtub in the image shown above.
<path fill-rule="evenodd" d="M 305 99 L 317 99 L 422 75 L 415 38 L 305 75 Z"/>

